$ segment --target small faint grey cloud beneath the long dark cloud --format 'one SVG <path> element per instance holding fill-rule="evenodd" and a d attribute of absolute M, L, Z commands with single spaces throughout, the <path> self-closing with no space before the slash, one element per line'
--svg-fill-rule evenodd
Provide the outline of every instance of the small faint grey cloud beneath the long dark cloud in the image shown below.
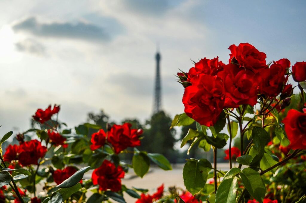
<path fill-rule="evenodd" d="M 28 52 L 37 55 L 45 54 L 45 47 L 34 39 L 25 39 L 15 44 L 16 49 L 20 52 Z"/>

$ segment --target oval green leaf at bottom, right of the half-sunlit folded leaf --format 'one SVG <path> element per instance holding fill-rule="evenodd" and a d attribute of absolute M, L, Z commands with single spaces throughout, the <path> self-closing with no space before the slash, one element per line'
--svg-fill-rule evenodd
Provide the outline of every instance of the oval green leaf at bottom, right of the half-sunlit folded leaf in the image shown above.
<path fill-rule="evenodd" d="M 245 188 L 259 202 L 263 202 L 266 194 L 266 186 L 263 179 L 253 169 L 245 168 L 240 172 L 240 176 Z"/>

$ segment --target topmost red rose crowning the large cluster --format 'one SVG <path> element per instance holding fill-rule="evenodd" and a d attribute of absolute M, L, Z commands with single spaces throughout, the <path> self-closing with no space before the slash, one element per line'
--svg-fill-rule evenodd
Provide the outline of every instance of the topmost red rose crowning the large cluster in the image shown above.
<path fill-rule="evenodd" d="M 238 63 L 240 67 L 258 72 L 259 69 L 266 68 L 267 55 L 259 52 L 253 45 L 249 43 L 240 43 L 238 46 L 230 45 L 229 47 L 230 63 Z"/>

